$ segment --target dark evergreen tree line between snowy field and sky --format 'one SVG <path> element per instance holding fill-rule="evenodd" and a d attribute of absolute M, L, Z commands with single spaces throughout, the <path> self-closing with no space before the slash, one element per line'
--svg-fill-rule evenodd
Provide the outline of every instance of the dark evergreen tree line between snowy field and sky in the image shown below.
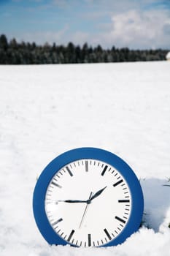
<path fill-rule="evenodd" d="M 128 48 L 103 49 L 85 43 L 74 45 L 36 45 L 35 42 L 17 42 L 0 35 L 0 64 L 69 64 L 123 61 L 162 61 L 169 50 L 130 50 Z"/>

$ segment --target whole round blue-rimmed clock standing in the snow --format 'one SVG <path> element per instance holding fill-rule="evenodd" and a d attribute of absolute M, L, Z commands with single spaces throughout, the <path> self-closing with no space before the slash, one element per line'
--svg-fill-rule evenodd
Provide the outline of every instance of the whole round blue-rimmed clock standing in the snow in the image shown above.
<path fill-rule="evenodd" d="M 143 208 L 134 171 L 100 148 L 76 148 L 56 157 L 34 189 L 34 218 L 49 244 L 121 244 L 139 229 Z"/>

